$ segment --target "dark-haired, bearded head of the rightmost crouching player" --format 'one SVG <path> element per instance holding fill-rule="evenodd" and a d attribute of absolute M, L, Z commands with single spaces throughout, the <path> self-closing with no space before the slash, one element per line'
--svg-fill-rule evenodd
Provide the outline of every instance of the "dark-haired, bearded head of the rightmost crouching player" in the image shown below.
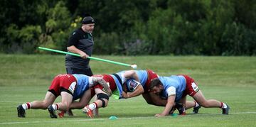
<path fill-rule="evenodd" d="M 152 79 L 152 81 L 150 82 L 149 89 L 151 92 L 154 92 L 154 94 L 159 95 L 164 89 L 164 86 L 161 83 L 159 78 L 155 78 L 155 79 Z"/>

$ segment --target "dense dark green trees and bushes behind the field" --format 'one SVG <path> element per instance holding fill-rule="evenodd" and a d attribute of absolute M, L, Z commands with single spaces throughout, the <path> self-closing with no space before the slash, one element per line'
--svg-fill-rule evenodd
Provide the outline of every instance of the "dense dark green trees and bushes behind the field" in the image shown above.
<path fill-rule="evenodd" d="M 256 55 L 255 0 L 2 0 L 0 53 L 66 50 L 85 13 L 94 54 Z"/>

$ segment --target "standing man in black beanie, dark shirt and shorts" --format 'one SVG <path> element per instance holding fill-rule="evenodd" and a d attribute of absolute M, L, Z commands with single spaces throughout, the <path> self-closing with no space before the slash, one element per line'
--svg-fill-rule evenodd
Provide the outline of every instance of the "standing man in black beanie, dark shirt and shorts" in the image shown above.
<path fill-rule="evenodd" d="M 93 38 L 92 31 L 95 27 L 95 20 L 87 15 L 82 19 L 81 28 L 73 31 L 68 40 L 67 50 L 71 53 L 78 53 L 80 57 L 66 55 L 65 67 L 68 74 L 86 74 L 92 76 L 90 69 L 90 59 L 92 55 Z"/>

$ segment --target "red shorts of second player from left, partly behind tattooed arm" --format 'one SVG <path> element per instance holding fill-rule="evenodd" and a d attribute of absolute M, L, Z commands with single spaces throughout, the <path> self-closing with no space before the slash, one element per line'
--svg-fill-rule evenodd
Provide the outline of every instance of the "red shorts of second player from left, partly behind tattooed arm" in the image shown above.
<path fill-rule="evenodd" d="M 112 92 L 114 92 L 115 89 L 117 89 L 117 85 L 114 82 L 114 79 L 109 74 L 99 74 L 99 75 L 93 75 L 92 77 L 102 77 L 105 82 L 107 82 L 110 85 L 110 89 Z M 102 85 L 96 84 L 94 87 L 91 88 L 91 96 L 95 96 L 95 89 L 100 88 L 103 90 Z"/>

